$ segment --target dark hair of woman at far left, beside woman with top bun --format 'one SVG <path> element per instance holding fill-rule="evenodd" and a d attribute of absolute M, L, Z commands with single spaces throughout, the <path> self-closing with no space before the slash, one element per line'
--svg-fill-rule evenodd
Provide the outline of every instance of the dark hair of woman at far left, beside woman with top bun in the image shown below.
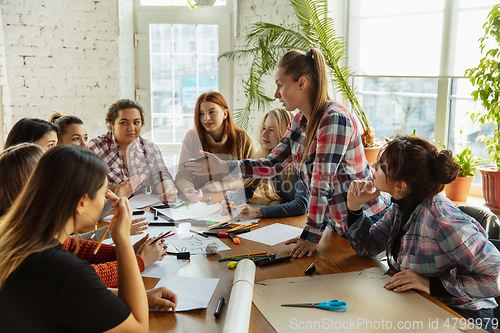
<path fill-rule="evenodd" d="M 22 118 L 12 126 L 3 148 L 23 142 L 37 143 L 47 132 L 57 133 L 57 127 L 43 119 Z"/>

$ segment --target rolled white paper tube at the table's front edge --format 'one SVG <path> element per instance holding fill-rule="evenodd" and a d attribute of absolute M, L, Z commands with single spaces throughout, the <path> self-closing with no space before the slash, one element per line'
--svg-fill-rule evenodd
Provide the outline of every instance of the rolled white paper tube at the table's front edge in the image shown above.
<path fill-rule="evenodd" d="M 233 288 L 222 333 L 248 332 L 254 281 L 255 264 L 250 259 L 241 260 L 234 272 Z"/>

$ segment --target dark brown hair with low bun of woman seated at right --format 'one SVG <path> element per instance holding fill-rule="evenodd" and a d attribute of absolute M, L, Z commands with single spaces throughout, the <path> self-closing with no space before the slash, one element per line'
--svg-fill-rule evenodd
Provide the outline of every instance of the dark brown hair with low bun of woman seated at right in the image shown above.
<path fill-rule="evenodd" d="M 432 198 L 458 175 L 460 166 L 450 150 L 438 151 L 427 140 L 408 135 L 396 136 L 379 153 L 388 177 L 404 181 L 414 198 Z"/>

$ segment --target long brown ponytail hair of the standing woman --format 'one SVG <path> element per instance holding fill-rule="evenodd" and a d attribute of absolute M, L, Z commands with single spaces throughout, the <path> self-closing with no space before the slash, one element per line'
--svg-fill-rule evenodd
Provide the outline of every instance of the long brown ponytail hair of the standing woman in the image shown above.
<path fill-rule="evenodd" d="M 330 100 L 325 58 L 316 48 L 311 48 L 307 53 L 292 50 L 281 57 L 278 68 L 283 68 L 285 75 L 291 76 L 294 82 L 297 82 L 301 76 L 305 76 L 309 83 L 309 102 L 312 105 L 312 111 L 306 127 L 303 162 L 309 153 L 319 122 L 325 114 L 326 104 Z"/>

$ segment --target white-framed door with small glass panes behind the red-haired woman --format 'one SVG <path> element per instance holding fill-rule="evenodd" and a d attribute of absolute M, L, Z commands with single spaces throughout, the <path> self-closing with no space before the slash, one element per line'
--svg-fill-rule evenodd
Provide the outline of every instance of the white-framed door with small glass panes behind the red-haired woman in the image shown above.
<path fill-rule="evenodd" d="M 217 3 L 191 10 L 186 0 L 140 0 L 137 98 L 149 111 L 143 136 L 164 153 L 180 152 L 201 93 L 219 91 L 231 103 L 229 62 L 217 61 L 230 49 L 230 9 Z"/>

